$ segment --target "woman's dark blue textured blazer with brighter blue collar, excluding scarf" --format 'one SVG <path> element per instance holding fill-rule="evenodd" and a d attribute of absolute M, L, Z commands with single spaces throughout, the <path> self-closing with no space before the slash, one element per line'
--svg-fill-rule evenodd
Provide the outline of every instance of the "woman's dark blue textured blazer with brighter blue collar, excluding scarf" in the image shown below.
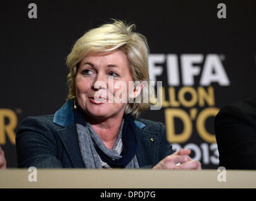
<path fill-rule="evenodd" d="M 137 119 L 136 156 L 139 166 L 154 166 L 173 153 L 161 122 Z M 74 122 L 73 102 L 55 114 L 26 117 L 16 133 L 18 168 L 85 168 Z"/>

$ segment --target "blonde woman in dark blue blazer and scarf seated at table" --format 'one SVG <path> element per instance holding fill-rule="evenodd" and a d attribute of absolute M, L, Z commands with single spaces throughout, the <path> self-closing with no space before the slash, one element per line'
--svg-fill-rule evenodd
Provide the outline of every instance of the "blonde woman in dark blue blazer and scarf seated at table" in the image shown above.
<path fill-rule="evenodd" d="M 148 43 L 114 20 L 86 32 L 67 56 L 67 102 L 27 117 L 16 135 L 18 167 L 201 169 L 190 150 L 174 153 L 165 126 L 138 118 L 152 95 Z"/>

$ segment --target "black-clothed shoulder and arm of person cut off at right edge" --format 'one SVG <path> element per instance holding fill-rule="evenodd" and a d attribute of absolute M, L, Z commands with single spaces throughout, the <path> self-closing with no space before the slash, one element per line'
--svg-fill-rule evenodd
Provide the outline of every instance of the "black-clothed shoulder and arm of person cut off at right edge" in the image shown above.
<path fill-rule="evenodd" d="M 256 169 L 256 129 L 243 107 L 227 106 L 215 118 L 219 166 Z"/>

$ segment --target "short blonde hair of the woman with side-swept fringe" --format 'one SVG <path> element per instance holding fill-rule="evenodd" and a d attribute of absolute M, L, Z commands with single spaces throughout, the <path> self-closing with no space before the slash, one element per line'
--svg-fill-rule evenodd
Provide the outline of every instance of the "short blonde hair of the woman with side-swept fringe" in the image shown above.
<path fill-rule="evenodd" d="M 143 87 L 141 94 L 153 92 L 149 84 L 148 54 L 149 47 L 146 37 L 140 33 L 134 32 L 135 24 L 126 24 L 123 21 L 113 19 L 113 23 L 103 24 L 86 32 L 76 41 L 71 53 L 67 56 L 67 84 L 69 86 L 68 99 L 76 97 L 76 70 L 79 62 L 91 52 L 110 52 L 112 50 L 122 50 L 129 60 L 132 79 L 134 81 L 144 81 L 148 87 Z M 141 96 L 141 95 L 140 95 Z M 131 113 L 136 119 L 139 114 L 148 109 L 148 103 L 128 103 L 125 108 L 125 114 Z"/>

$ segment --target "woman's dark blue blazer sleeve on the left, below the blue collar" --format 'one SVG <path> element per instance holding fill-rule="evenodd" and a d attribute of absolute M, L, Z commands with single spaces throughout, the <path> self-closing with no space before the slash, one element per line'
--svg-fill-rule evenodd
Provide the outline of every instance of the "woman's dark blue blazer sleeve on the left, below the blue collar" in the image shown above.
<path fill-rule="evenodd" d="M 18 168 L 62 168 L 57 159 L 54 135 L 47 128 L 47 123 L 37 117 L 27 117 L 16 134 Z"/>

